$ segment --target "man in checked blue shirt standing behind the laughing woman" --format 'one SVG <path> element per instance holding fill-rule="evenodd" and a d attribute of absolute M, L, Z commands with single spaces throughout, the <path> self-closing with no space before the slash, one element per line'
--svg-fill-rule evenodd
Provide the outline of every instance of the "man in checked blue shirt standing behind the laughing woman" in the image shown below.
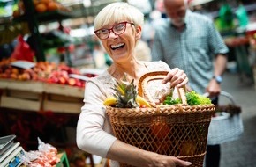
<path fill-rule="evenodd" d="M 152 47 L 153 61 L 184 69 L 189 86 L 208 93 L 216 105 L 226 69 L 228 47 L 210 18 L 188 9 L 187 1 L 163 0 L 168 19 L 158 26 Z M 207 145 L 206 167 L 218 167 L 220 145 Z"/>

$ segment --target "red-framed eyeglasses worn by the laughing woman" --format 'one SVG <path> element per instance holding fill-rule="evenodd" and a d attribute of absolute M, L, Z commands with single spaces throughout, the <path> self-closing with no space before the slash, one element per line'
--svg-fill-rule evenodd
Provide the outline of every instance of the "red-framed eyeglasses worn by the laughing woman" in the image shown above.
<path fill-rule="evenodd" d="M 126 30 L 126 24 L 129 23 L 127 21 L 117 23 L 116 25 L 113 25 L 112 28 L 102 28 L 99 30 L 94 31 L 94 33 L 97 35 L 97 37 L 101 40 L 105 40 L 109 38 L 110 31 L 115 33 L 116 35 L 121 35 Z M 134 23 L 129 23 L 131 25 L 134 25 Z"/>

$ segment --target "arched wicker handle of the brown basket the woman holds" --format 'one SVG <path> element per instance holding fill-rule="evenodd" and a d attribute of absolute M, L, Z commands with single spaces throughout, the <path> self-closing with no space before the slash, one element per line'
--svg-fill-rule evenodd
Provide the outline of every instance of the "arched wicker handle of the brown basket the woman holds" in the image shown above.
<path fill-rule="evenodd" d="M 147 84 L 153 80 L 162 80 L 169 72 L 168 71 L 154 71 L 148 72 L 147 74 L 141 76 L 139 78 L 139 85 L 138 85 L 138 94 L 141 97 L 144 97 L 148 100 L 149 103 L 155 105 L 153 98 L 151 97 L 149 91 L 147 90 Z M 178 97 L 181 98 L 182 104 L 187 105 L 185 92 L 185 87 L 177 88 Z"/>

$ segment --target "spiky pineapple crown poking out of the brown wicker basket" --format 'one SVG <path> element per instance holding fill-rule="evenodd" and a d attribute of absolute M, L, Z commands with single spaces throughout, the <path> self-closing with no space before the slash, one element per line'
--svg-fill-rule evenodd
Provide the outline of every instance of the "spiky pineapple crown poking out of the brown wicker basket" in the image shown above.
<path fill-rule="evenodd" d="M 134 79 L 129 84 L 126 80 L 126 76 L 124 75 L 123 81 L 118 82 L 115 84 L 113 88 L 114 97 L 117 98 L 117 105 L 118 108 L 136 108 L 139 107 L 136 98 L 138 92 L 136 90 L 136 86 L 134 85 Z"/>

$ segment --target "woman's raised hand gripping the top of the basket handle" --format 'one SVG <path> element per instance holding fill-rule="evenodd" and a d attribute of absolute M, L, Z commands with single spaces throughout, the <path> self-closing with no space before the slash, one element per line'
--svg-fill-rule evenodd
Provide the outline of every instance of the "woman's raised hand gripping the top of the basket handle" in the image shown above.
<path fill-rule="evenodd" d="M 168 82 L 170 82 L 171 87 L 177 86 L 178 88 L 181 88 L 188 83 L 188 77 L 184 73 L 184 70 L 175 68 L 171 69 L 167 76 L 162 80 L 162 84 Z"/>

